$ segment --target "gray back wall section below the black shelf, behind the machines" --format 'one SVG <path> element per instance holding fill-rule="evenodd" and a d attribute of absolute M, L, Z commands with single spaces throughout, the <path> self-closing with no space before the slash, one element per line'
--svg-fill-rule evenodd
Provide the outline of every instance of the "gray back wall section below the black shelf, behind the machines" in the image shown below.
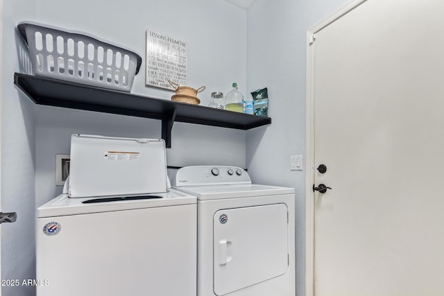
<path fill-rule="evenodd" d="M 69 154 L 71 134 L 160 138 L 161 123 L 155 119 L 40 105 L 36 110 L 37 207 L 62 193 L 62 186 L 56 186 L 56 154 Z M 214 164 L 214 162 L 245 165 L 245 142 L 245 131 L 174 123 L 172 148 L 167 149 L 167 162 L 170 166 Z M 240 152 L 233 154 L 230 152 L 231 149 Z"/>

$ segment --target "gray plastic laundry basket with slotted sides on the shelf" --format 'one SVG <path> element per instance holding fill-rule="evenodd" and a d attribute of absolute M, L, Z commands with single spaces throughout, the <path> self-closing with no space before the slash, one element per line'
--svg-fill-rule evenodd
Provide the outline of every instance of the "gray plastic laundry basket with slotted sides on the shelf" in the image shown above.
<path fill-rule="evenodd" d="M 21 22 L 35 76 L 130 92 L 142 58 L 82 32 Z"/>

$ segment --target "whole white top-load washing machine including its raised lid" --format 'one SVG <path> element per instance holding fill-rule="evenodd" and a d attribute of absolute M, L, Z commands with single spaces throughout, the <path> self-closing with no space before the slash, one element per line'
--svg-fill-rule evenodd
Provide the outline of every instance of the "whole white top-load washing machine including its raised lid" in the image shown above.
<path fill-rule="evenodd" d="M 37 296 L 196 296 L 197 200 L 164 141 L 74 134 L 70 171 L 37 209 Z"/>

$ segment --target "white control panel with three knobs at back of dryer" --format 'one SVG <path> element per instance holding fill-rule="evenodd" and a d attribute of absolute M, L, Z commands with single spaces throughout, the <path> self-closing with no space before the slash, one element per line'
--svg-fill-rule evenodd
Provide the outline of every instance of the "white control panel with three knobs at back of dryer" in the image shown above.
<path fill-rule="evenodd" d="M 251 184 L 248 173 L 237 166 L 185 166 L 173 178 L 173 186 Z"/>

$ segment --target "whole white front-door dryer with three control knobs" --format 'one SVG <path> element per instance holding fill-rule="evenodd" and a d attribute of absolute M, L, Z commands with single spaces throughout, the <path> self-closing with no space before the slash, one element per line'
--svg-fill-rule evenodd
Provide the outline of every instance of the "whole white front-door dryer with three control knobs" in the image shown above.
<path fill-rule="evenodd" d="M 187 166 L 173 187 L 198 198 L 198 296 L 294 296 L 294 189 L 233 166 Z"/>

